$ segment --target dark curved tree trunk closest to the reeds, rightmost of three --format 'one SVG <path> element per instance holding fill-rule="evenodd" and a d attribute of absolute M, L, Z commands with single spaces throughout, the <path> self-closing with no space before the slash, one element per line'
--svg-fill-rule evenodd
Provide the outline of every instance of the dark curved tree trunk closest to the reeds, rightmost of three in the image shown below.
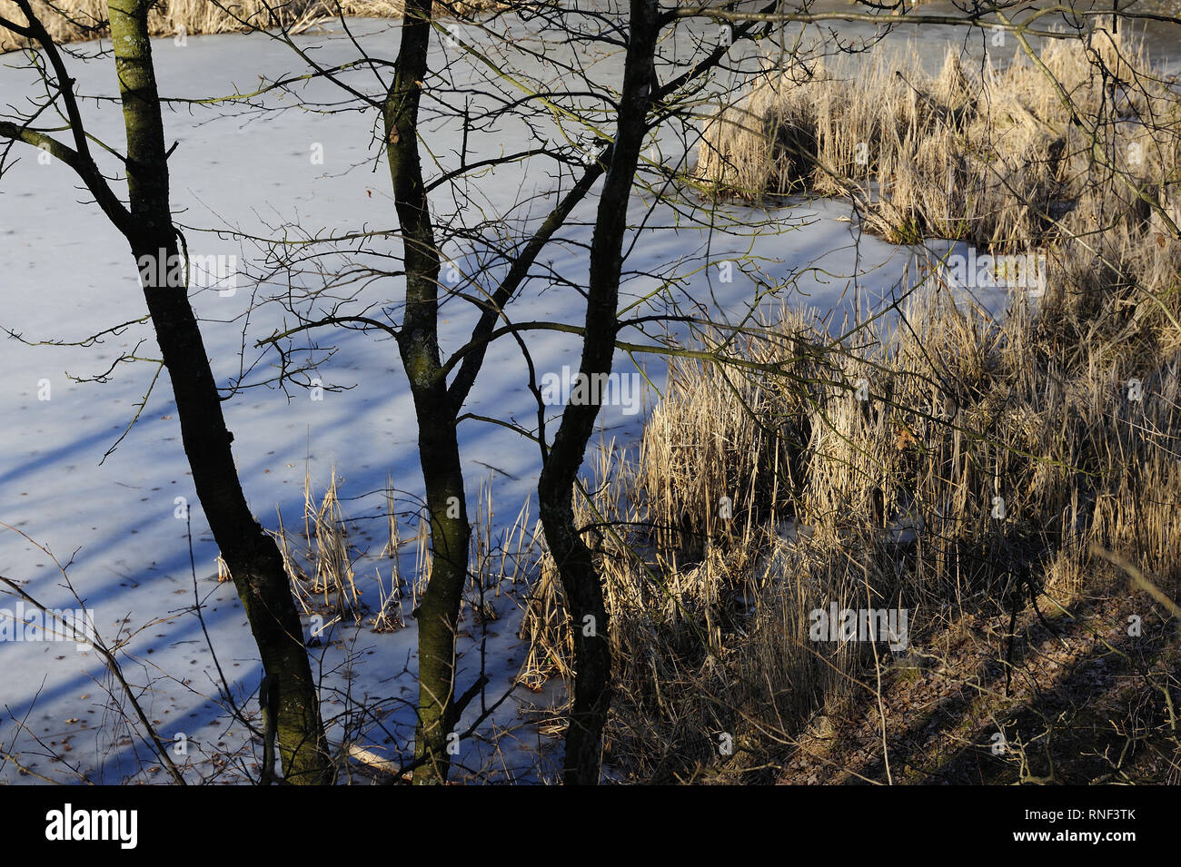
<path fill-rule="evenodd" d="M 655 0 L 632 0 L 631 35 L 619 105 L 619 126 L 608 159 L 590 243 L 590 287 L 580 372 L 609 374 L 615 352 L 619 278 L 627 203 L 655 90 L 653 57 L 659 33 Z M 566 733 L 567 784 L 596 784 L 602 729 L 611 709 L 611 645 L 602 584 L 590 550 L 574 524 L 573 487 L 586 457 L 599 407 L 569 406 L 554 436 L 537 485 L 546 541 L 557 564 L 574 618 L 574 701 Z"/>

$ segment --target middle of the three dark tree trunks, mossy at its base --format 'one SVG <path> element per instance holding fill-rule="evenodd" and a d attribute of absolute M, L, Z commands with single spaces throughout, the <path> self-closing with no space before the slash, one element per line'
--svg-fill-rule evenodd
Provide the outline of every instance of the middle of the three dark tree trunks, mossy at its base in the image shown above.
<path fill-rule="evenodd" d="M 402 226 L 406 313 L 398 349 L 418 420 L 418 454 L 431 523 L 431 576 L 417 611 L 418 727 L 415 783 L 446 781 L 455 716 L 455 632 L 468 577 L 466 499 L 456 431 L 438 348 L 439 257 L 418 152 L 418 104 L 426 75 L 432 0 L 406 4 L 398 68 L 384 105 L 386 156 Z"/>

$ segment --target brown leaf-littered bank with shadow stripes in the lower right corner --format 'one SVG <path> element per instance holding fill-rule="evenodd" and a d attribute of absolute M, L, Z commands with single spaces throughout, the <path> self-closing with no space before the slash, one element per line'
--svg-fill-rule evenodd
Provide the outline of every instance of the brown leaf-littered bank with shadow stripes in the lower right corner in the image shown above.
<path fill-rule="evenodd" d="M 944 624 L 882 661 L 880 703 L 876 669 L 860 670 L 861 696 L 817 712 L 776 781 L 1179 782 L 1177 631 L 1149 595 L 1105 578 L 1042 597 L 1044 618 L 1026 607 L 1013 632 L 1006 616 Z"/>

